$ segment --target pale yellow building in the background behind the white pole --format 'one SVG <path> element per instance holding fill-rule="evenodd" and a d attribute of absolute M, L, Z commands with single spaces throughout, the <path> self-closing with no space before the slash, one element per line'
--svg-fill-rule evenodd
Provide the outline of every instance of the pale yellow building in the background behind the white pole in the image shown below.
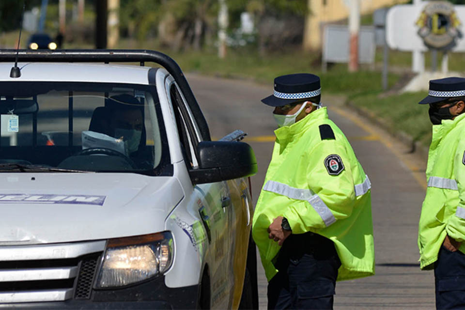
<path fill-rule="evenodd" d="M 360 13 L 371 14 L 374 10 L 408 2 L 408 0 L 360 0 Z M 310 14 L 306 18 L 304 42 L 305 50 L 321 49 L 323 26 L 349 16 L 350 0 L 308 0 Z"/>

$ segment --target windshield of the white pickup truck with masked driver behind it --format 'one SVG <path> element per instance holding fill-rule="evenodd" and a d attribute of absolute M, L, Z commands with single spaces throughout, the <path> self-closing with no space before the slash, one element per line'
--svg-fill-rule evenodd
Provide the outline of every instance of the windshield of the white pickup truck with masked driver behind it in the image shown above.
<path fill-rule="evenodd" d="M 153 85 L 0 82 L 0 115 L 0 172 L 172 174 Z"/>

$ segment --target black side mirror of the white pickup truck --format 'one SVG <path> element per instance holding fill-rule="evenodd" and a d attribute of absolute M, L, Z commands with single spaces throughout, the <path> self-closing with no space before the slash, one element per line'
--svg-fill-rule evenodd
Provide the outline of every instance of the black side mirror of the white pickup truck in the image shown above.
<path fill-rule="evenodd" d="M 194 184 L 242 178 L 257 173 L 250 145 L 236 141 L 202 141 L 197 145 L 199 167 L 189 171 Z"/>

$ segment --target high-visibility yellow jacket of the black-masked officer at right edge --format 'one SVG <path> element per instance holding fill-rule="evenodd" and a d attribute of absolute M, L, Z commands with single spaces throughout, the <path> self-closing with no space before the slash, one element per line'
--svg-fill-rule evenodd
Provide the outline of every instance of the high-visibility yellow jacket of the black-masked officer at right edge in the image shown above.
<path fill-rule="evenodd" d="M 433 125 L 428 188 L 418 225 L 420 268 L 431 269 L 448 234 L 465 241 L 465 114 Z M 465 253 L 465 243 L 459 248 Z"/>

